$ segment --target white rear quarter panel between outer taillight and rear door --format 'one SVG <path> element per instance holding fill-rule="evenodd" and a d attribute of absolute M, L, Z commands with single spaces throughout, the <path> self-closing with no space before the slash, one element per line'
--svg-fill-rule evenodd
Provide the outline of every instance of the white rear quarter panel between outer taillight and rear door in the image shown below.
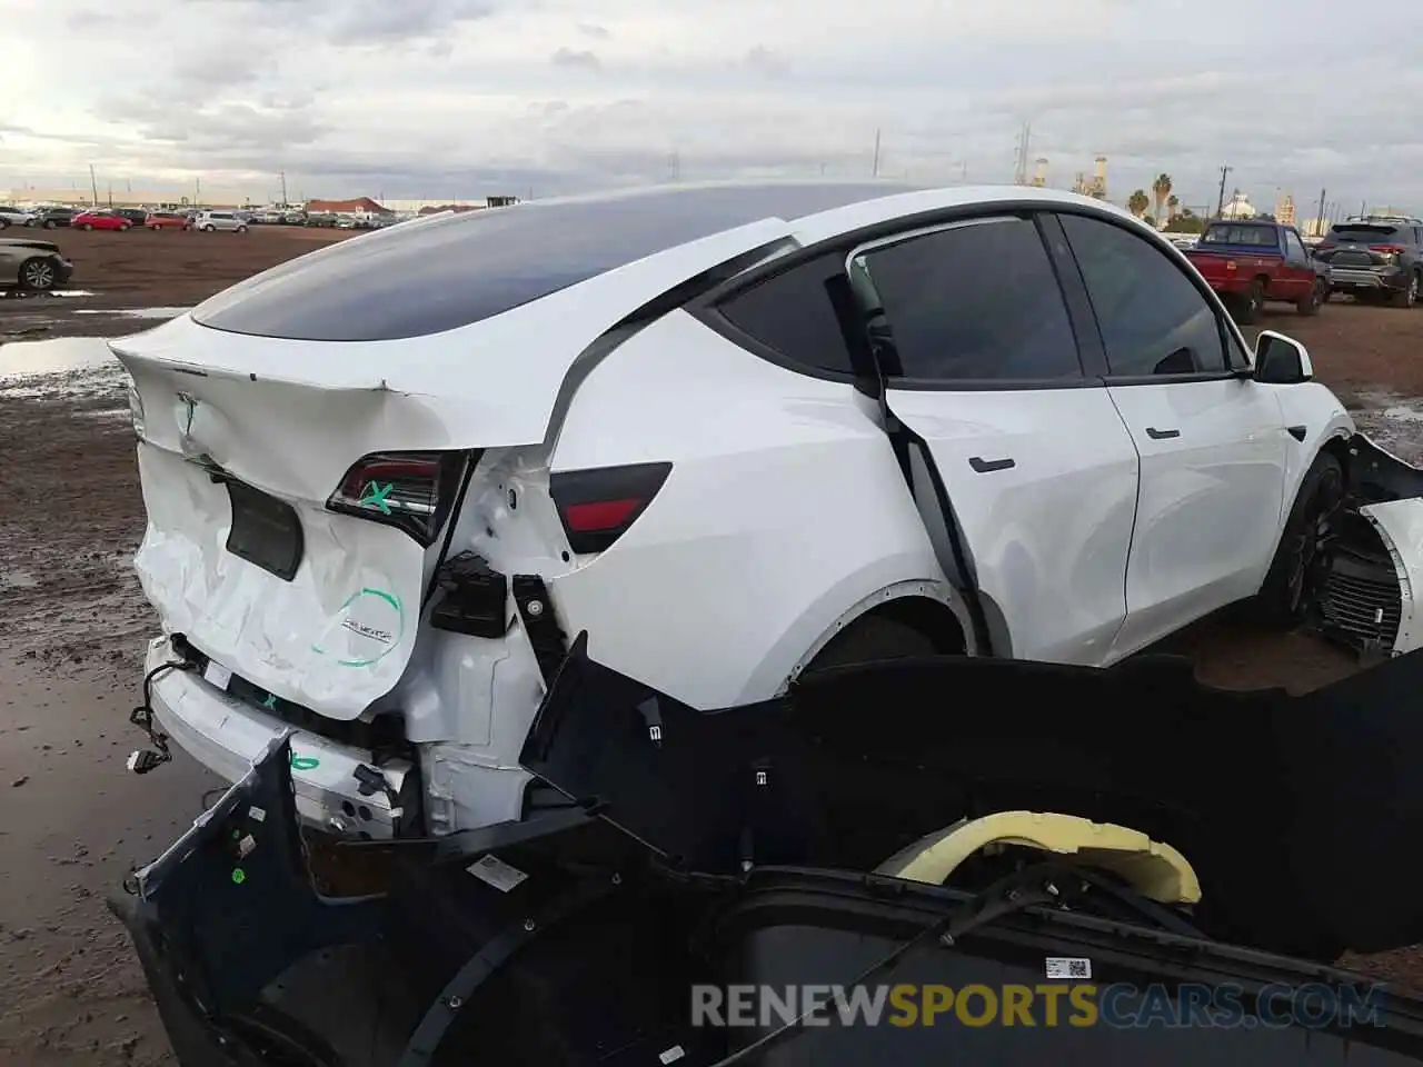
<path fill-rule="evenodd" d="M 552 579 L 589 653 L 696 707 L 774 694 L 881 596 L 951 600 L 894 452 L 850 384 L 673 312 L 579 387 L 552 469 L 670 461 L 609 551 Z"/>

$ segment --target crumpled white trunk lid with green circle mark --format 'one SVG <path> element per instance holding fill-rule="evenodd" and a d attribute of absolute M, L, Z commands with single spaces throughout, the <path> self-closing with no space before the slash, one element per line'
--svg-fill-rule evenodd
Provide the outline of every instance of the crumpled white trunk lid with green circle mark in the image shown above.
<path fill-rule="evenodd" d="M 297 341 L 182 316 L 111 341 L 141 438 L 135 566 L 164 627 L 268 693 L 356 718 L 404 673 L 438 548 L 327 508 L 353 464 L 542 441 L 565 377 L 603 331 L 785 236 L 767 219 L 427 337 Z M 243 558 L 235 536 L 266 539 L 270 563 L 296 555 L 293 573 Z"/>

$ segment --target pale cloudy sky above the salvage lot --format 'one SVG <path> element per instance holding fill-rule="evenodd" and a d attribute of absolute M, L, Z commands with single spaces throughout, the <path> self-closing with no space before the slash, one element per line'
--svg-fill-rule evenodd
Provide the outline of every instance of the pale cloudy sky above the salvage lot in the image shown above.
<path fill-rule="evenodd" d="M 0 191 L 548 196 L 740 175 L 1423 211 L 1423 6 L 1296 0 L 0 0 Z M 3 193 L 0 193 L 3 195 Z"/>

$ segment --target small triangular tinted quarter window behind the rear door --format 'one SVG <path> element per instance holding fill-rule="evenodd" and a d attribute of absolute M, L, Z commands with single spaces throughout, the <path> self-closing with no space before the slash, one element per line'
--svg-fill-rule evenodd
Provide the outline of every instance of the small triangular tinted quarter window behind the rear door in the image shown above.
<path fill-rule="evenodd" d="M 797 363 L 848 374 L 850 351 L 825 292 L 825 279 L 844 270 L 844 252 L 831 252 L 737 293 L 719 310 Z"/>

